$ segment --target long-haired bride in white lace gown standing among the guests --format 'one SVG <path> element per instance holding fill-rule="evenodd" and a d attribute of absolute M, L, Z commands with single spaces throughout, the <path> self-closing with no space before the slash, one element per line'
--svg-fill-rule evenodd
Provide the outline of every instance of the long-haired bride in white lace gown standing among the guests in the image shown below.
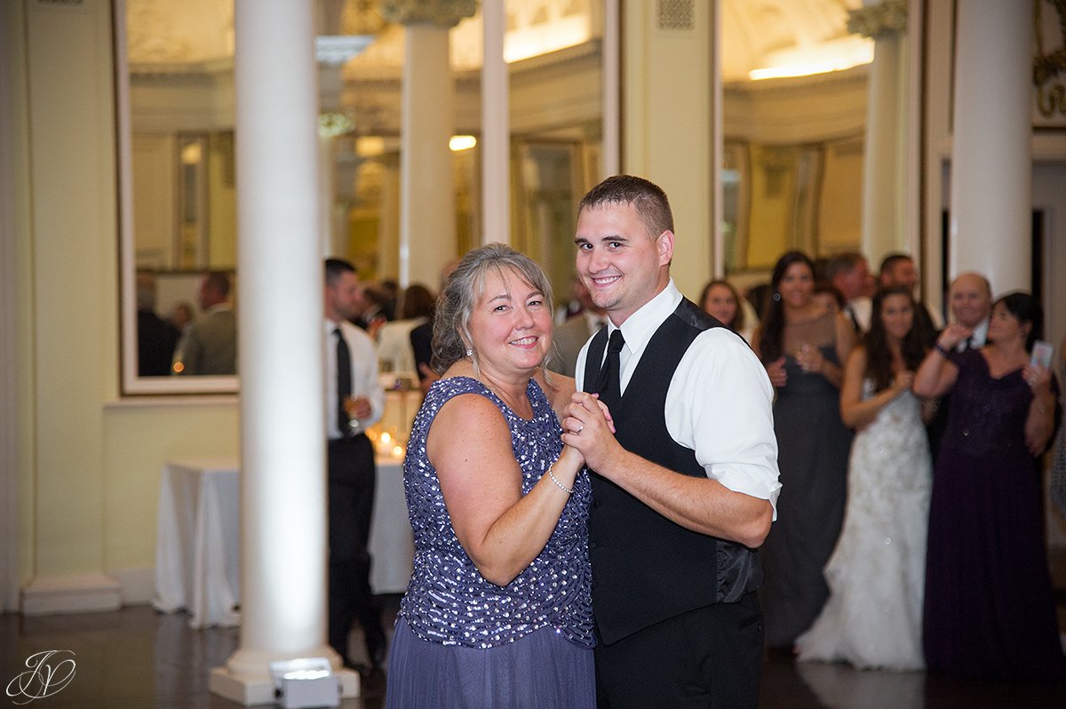
<path fill-rule="evenodd" d="M 825 567 L 830 596 L 796 640 L 801 660 L 856 667 L 921 670 L 922 591 L 932 463 L 922 402 L 910 391 L 923 335 L 915 304 L 888 289 L 873 303 L 863 347 L 847 360 L 841 415 L 858 433 L 847 472 L 847 506 Z"/>

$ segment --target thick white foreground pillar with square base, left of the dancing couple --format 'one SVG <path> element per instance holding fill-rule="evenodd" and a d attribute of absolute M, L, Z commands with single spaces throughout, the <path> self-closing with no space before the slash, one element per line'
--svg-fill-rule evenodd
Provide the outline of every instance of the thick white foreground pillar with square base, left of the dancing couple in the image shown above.
<path fill-rule="evenodd" d="M 326 486 L 313 14 L 237 0 L 240 647 L 211 691 L 273 704 L 269 663 L 325 643 Z M 358 677 L 343 673 L 346 694 Z"/>

